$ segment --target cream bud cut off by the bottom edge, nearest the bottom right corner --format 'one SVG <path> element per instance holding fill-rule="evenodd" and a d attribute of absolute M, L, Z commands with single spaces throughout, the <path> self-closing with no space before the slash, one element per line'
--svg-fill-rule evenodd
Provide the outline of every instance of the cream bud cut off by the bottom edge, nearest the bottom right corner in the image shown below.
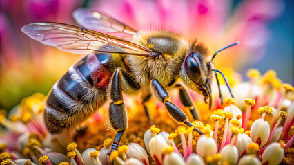
<path fill-rule="evenodd" d="M 280 144 L 273 142 L 269 144 L 264 153 L 262 153 L 262 164 L 268 162 L 268 165 L 280 164 L 284 157 L 284 149 L 281 148 Z"/>

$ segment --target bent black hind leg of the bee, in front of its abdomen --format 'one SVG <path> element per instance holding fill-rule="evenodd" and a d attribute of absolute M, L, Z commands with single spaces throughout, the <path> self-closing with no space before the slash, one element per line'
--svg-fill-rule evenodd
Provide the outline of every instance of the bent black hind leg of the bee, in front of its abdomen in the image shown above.
<path fill-rule="evenodd" d="M 124 85 L 128 85 L 131 89 L 139 90 L 140 85 L 135 81 L 135 79 L 128 74 L 124 69 L 118 68 L 112 75 L 110 83 L 110 105 L 108 109 L 109 122 L 112 129 L 117 130 L 115 139 L 111 147 L 110 153 L 117 150 L 121 137 L 124 135 L 124 131 L 128 127 L 128 115 L 126 107 L 124 104 L 122 90 Z"/>

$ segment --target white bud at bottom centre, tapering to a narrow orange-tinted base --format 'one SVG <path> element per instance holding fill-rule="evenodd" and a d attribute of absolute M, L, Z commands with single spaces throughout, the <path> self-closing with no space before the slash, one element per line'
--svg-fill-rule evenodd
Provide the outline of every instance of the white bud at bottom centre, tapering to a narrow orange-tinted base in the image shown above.
<path fill-rule="evenodd" d="M 166 140 L 161 135 L 156 135 L 152 137 L 149 141 L 149 148 L 151 156 L 157 157 L 158 161 L 162 163 L 162 150 L 168 146 Z"/>

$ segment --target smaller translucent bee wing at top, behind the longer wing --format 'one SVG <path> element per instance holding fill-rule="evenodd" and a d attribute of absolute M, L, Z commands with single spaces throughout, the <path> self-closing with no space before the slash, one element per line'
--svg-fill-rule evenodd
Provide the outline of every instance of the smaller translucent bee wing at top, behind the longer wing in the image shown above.
<path fill-rule="evenodd" d="M 133 36 L 136 30 L 121 23 L 101 12 L 94 12 L 84 8 L 79 8 L 73 12 L 75 21 L 82 27 L 98 32 L 104 32 L 113 36 Z"/>

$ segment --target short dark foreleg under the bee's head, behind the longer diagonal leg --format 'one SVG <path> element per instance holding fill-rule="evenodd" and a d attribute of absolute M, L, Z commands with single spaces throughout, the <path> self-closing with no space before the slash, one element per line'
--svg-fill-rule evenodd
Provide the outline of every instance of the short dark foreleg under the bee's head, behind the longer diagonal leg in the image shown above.
<path fill-rule="evenodd" d="M 192 114 L 194 120 L 199 120 L 197 111 L 195 107 L 193 106 L 193 103 L 189 95 L 187 94 L 187 91 L 185 90 L 185 88 L 181 84 L 176 84 L 175 87 L 179 89 L 179 100 L 181 100 L 182 105 L 190 109 L 190 113 Z"/>

